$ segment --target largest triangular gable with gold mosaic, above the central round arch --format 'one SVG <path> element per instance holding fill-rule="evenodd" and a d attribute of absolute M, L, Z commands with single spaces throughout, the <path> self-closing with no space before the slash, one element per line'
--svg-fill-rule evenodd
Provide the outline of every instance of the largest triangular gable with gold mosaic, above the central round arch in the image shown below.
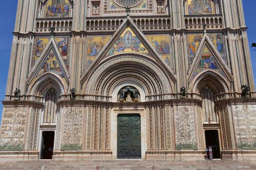
<path fill-rule="evenodd" d="M 129 34 L 132 34 L 133 43 L 126 36 L 131 37 Z M 125 37 L 123 37 L 125 36 Z M 120 42 L 120 37 L 123 37 L 123 41 L 127 41 L 126 44 L 123 42 L 122 47 L 117 46 L 117 42 Z M 130 41 L 130 42 L 129 42 Z M 131 44 L 132 43 L 132 44 Z M 120 45 L 120 44 L 119 44 Z M 94 62 L 88 67 L 83 73 L 81 81 L 84 82 L 89 76 L 89 72 L 91 72 L 100 61 L 114 54 L 118 53 L 133 53 L 133 54 L 147 54 L 147 56 L 152 57 L 152 59 L 156 60 L 163 68 L 168 72 L 173 79 L 176 81 L 176 77 L 174 76 L 173 71 L 169 68 L 169 66 L 164 62 L 161 56 L 157 53 L 154 46 L 145 38 L 145 36 L 141 33 L 141 31 L 135 26 L 130 17 L 127 17 L 116 33 L 112 36 L 109 42 L 105 45 L 106 48 L 102 50 Z M 113 52 L 114 47 L 114 52 Z M 87 73 L 87 74 L 86 74 Z"/>

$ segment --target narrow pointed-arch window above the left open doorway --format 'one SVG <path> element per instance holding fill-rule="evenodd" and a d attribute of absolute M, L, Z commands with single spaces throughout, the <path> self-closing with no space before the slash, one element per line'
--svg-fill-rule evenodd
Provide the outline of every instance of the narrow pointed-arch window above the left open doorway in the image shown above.
<path fill-rule="evenodd" d="M 51 88 L 45 95 L 44 123 L 55 123 L 57 92 Z"/>

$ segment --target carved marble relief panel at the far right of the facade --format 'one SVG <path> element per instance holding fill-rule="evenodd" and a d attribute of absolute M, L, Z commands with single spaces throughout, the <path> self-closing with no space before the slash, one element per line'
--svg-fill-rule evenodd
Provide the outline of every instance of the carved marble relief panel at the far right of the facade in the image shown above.
<path fill-rule="evenodd" d="M 237 147 L 244 150 L 256 149 L 256 105 L 233 106 Z"/>

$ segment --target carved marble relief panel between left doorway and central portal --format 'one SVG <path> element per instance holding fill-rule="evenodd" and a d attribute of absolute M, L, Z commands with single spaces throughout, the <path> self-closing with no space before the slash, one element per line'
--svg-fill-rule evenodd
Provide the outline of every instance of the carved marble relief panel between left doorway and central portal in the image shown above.
<path fill-rule="evenodd" d="M 82 149 L 82 107 L 69 107 L 64 115 L 61 150 Z"/>

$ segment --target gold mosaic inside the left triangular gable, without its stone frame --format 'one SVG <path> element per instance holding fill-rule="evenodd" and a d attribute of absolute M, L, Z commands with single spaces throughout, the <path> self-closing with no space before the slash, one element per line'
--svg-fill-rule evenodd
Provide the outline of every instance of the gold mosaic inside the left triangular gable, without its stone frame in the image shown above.
<path fill-rule="evenodd" d="M 53 73 L 59 75 L 67 83 L 67 80 L 63 74 L 62 69 L 60 68 L 59 62 L 58 62 L 53 50 L 50 51 L 50 53 L 47 55 L 44 63 L 41 65 L 41 68 L 37 74 L 37 77 L 41 76 L 45 72 L 53 72 Z"/>

